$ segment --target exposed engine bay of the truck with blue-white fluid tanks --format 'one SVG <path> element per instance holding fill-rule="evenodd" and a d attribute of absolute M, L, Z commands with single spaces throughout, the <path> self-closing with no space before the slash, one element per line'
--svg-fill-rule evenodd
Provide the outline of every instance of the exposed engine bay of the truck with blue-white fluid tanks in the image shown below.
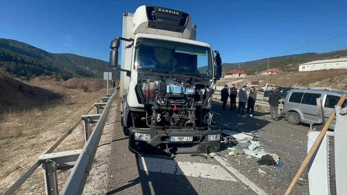
<path fill-rule="evenodd" d="M 213 81 L 200 82 L 193 78 L 151 80 L 139 77 L 138 87 L 141 88 L 145 113 L 132 116 L 134 125 L 154 129 L 209 126 L 212 121 L 210 97 L 214 93 L 211 89 Z"/>

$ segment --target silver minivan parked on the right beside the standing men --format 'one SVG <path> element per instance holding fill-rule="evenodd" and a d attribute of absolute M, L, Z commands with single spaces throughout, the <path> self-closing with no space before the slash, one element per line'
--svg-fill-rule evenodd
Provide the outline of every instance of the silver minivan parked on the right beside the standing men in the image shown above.
<path fill-rule="evenodd" d="M 316 98 L 322 99 L 325 122 L 335 109 L 335 105 L 340 100 L 342 94 L 347 94 L 342 90 L 330 90 L 322 88 L 294 88 L 288 92 L 286 96 L 282 113 L 290 124 L 297 125 L 299 123 L 317 123 L 318 111 Z M 347 99 L 342 108 L 347 106 Z M 335 127 L 336 118 L 332 121 L 330 129 Z"/>

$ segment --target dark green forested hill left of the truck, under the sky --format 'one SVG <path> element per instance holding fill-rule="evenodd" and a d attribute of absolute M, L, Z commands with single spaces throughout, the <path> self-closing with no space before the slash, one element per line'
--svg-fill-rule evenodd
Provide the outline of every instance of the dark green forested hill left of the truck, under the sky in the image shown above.
<path fill-rule="evenodd" d="M 71 53 L 50 53 L 32 45 L 0 38 L 0 67 L 17 77 L 56 75 L 58 79 L 72 77 L 102 78 L 103 72 L 112 72 L 119 78 L 119 71 L 112 70 L 103 60 Z"/>

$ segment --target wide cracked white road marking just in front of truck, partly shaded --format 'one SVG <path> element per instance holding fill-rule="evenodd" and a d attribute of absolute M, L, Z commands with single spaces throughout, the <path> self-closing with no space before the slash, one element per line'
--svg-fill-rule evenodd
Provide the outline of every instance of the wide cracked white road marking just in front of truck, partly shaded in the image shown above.
<path fill-rule="evenodd" d="M 174 160 L 165 160 L 150 157 L 141 157 L 139 158 L 139 161 L 140 169 L 144 171 L 204 177 L 226 181 L 237 181 L 219 165 L 179 161 L 176 162 Z M 214 169 L 212 167 L 214 167 Z"/>

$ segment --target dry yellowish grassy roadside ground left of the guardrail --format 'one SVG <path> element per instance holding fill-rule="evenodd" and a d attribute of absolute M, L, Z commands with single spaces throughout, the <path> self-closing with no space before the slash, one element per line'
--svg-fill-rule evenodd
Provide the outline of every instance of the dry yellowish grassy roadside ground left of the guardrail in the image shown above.
<path fill-rule="evenodd" d="M 32 108 L 5 113 L 0 121 L 0 194 L 10 187 L 40 154 L 45 153 L 92 105 L 106 94 L 82 89 L 40 84 L 42 88 L 61 94 L 63 101 L 46 108 Z M 95 109 L 91 113 L 94 113 Z M 83 123 L 54 151 L 82 149 Z M 91 126 L 91 129 L 93 126 Z M 59 181 L 60 182 L 60 181 Z M 63 181 L 65 183 L 65 180 Z M 45 194 L 41 167 L 16 194 Z"/>

